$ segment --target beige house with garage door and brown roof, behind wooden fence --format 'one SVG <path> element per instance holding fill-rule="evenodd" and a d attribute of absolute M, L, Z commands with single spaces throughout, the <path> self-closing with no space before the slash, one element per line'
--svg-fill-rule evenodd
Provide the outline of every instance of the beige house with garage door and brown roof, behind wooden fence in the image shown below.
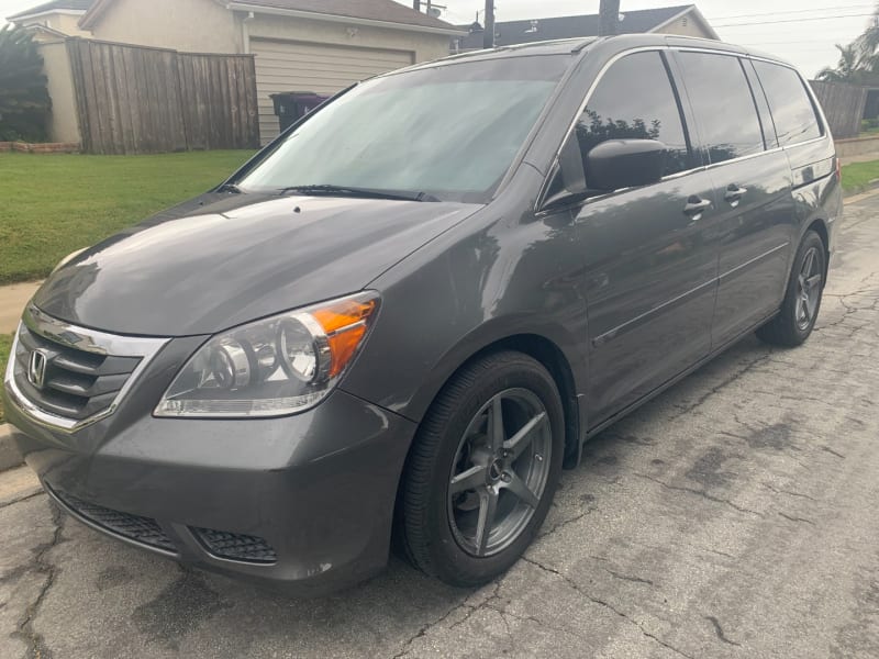
<path fill-rule="evenodd" d="M 465 36 L 393 0 L 94 0 L 79 29 L 101 41 L 180 52 L 253 54 L 263 143 L 279 133 L 270 96 L 335 93 L 448 55 Z"/>

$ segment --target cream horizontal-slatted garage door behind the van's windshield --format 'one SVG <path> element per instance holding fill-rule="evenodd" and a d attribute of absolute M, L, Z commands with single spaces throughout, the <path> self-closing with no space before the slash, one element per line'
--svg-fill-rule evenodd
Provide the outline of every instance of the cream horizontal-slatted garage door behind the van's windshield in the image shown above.
<path fill-rule="evenodd" d="M 278 136 L 271 94 L 283 91 L 335 93 L 358 80 L 413 64 L 407 51 L 346 48 L 322 44 L 253 40 L 259 135 L 263 144 Z"/>

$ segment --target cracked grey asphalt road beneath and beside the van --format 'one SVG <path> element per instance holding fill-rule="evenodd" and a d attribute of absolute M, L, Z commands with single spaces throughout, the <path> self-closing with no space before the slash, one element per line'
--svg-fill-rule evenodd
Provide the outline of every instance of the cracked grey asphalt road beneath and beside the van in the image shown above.
<path fill-rule="evenodd" d="M 287 600 L 0 476 L 0 657 L 879 657 L 877 215 L 879 197 L 847 206 L 805 347 L 747 339 L 598 437 L 525 559 L 478 591 L 393 561 Z"/>

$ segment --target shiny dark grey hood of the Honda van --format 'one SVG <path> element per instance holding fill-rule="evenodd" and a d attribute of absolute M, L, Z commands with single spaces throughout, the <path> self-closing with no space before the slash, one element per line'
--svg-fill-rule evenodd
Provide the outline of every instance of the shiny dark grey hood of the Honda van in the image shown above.
<path fill-rule="evenodd" d="M 105 332 L 212 334 L 359 291 L 479 208 L 205 194 L 84 252 L 34 303 Z"/>

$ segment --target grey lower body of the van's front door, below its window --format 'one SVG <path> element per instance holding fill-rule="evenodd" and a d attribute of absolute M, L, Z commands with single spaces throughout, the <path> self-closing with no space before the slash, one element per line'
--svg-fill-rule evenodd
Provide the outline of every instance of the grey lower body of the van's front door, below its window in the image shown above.
<path fill-rule="evenodd" d="M 600 423 L 711 351 L 717 276 L 705 171 L 583 206 L 590 420 Z"/>

